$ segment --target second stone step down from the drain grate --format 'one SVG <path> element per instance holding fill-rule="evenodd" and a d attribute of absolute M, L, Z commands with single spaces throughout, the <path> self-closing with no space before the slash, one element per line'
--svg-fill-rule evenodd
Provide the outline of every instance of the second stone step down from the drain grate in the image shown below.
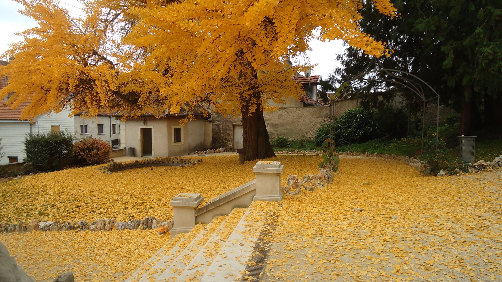
<path fill-rule="evenodd" d="M 190 264 L 181 272 L 176 281 L 194 281 L 202 277 L 218 254 L 222 244 L 229 238 L 242 219 L 246 210 L 244 208 L 232 210 Z"/>

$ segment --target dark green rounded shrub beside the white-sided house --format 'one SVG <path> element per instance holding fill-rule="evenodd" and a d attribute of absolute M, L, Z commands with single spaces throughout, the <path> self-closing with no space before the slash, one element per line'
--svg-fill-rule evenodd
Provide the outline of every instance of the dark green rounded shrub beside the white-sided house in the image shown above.
<path fill-rule="evenodd" d="M 26 162 L 40 171 L 60 170 L 71 161 L 73 136 L 59 132 L 28 134 L 25 138 Z"/>

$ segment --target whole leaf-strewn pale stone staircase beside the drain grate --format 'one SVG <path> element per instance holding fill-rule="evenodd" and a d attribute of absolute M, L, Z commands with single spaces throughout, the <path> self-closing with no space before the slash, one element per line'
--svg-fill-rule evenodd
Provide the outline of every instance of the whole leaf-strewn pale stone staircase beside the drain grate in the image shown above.
<path fill-rule="evenodd" d="M 172 248 L 161 248 L 127 281 L 240 281 L 249 274 L 246 266 L 255 264 L 249 260 L 266 221 L 256 208 L 233 209 L 178 234 Z"/>

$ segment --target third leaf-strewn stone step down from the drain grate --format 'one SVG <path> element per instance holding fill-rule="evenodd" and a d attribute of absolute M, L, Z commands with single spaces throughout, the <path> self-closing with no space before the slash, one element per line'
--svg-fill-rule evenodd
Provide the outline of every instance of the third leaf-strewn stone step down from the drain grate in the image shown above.
<path fill-rule="evenodd" d="M 199 241 L 201 237 L 212 234 L 213 232 L 210 230 L 218 227 L 224 218 L 224 216 L 214 218 L 214 220 L 205 225 L 202 230 L 201 227 L 203 224 L 199 224 L 188 233 L 176 235 L 166 246 L 159 249 L 150 259 L 143 263 L 126 281 L 151 281 L 161 279 L 159 277 L 173 264 L 173 261 L 183 253 L 192 241 Z M 176 244 L 173 247 L 169 247 L 173 244 L 173 241 Z"/>

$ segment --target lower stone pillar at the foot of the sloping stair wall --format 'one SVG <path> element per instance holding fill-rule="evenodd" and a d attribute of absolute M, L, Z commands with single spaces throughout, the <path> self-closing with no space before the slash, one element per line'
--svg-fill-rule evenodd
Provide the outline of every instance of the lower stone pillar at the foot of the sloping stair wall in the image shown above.
<path fill-rule="evenodd" d="M 204 200 L 201 194 L 180 193 L 171 201 L 174 226 L 171 237 L 178 233 L 189 232 L 195 226 L 195 208 Z"/>

